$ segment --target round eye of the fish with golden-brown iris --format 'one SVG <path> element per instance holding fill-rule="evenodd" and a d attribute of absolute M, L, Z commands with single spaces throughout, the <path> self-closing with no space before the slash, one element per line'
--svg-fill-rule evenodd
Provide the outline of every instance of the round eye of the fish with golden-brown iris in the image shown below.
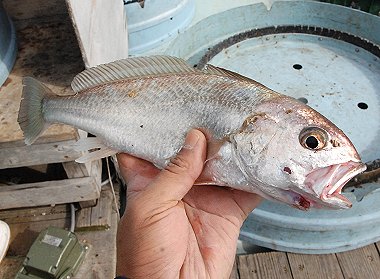
<path fill-rule="evenodd" d="M 299 136 L 301 145 L 310 150 L 320 150 L 326 146 L 328 140 L 327 132 L 318 127 L 307 127 Z"/>

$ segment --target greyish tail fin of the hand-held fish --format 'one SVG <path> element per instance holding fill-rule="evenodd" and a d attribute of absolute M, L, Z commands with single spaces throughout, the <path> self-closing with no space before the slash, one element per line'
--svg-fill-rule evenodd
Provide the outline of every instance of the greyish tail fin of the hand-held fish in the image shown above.
<path fill-rule="evenodd" d="M 18 123 L 24 133 L 25 144 L 32 144 L 49 127 L 42 111 L 43 99 L 53 92 L 32 77 L 23 79 L 23 91 L 18 113 Z"/>

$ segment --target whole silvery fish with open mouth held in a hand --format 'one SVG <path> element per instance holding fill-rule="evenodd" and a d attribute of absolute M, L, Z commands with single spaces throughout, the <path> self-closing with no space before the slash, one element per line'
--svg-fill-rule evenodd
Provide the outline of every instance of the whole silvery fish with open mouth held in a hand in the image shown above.
<path fill-rule="evenodd" d="M 187 132 L 203 131 L 208 150 L 197 185 L 217 185 L 309 208 L 352 206 L 342 188 L 366 169 L 350 139 L 306 104 L 227 69 L 199 70 L 177 57 L 134 57 L 74 77 L 71 96 L 57 96 L 32 77 L 23 80 L 18 116 L 25 143 L 52 123 L 95 137 L 77 159 L 118 152 L 165 168 Z"/>

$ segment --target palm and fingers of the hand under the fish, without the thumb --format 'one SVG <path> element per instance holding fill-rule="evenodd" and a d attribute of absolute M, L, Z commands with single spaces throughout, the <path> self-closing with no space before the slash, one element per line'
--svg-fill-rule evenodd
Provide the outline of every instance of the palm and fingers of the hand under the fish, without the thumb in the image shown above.
<path fill-rule="evenodd" d="M 129 240 L 119 239 L 126 242 L 127 249 L 118 251 L 129 259 L 125 268 L 146 278 L 223 278 L 230 272 L 240 226 L 260 198 L 222 187 L 194 186 L 180 201 L 157 204 L 144 190 L 159 170 L 124 154 L 119 164 L 128 182 L 127 210 L 139 211 L 121 221 L 129 228 Z M 142 249 L 129 251 L 128 241 L 137 241 Z"/>

